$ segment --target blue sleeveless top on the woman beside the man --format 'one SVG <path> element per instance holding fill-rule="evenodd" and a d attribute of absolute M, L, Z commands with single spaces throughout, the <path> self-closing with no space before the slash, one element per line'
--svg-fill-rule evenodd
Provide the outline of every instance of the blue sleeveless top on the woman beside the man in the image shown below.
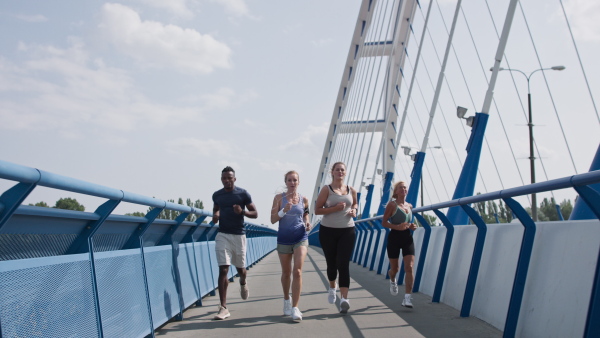
<path fill-rule="evenodd" d="M 294 245 L 308 239 L 302 217 L 304 216 L 304 198 L 298 194 L 300 202 L 292 205 L 283 218 L 279 220 L 277 244 Z M 281 205 L 288 203 L 285 193 L 282 193 Z"/>

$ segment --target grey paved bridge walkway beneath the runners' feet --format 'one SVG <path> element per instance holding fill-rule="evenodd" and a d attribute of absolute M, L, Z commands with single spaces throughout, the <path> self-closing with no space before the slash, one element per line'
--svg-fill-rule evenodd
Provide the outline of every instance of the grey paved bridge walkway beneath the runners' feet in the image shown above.
<path fill-rule="evenodd" d="M 271 252 L 248 271 L 250 298 L 242 300 L 238 280 L 228 290 L 231 317 L 214 321 L 219 297 L 207 296 L 202 307 L 184 312 L 183 321 L 172 321 L 156 331 L 157 337 L 500 337 L 502 332 L 474 317 L 461 318 L 431 297 L 413 295 L 414 309 L 402 307 L 401 292 L 393 297 L 381 275 L 350 263 L 351 309 L 346 315 L 327 302 L 325 258 L 320 248 L 310 247 L 304 263 L 300 310 L 295 323 L 282 314 L 283 297 L 279 259 Z M 402 287 L 400 290 L 402 291 Z M 339 295 L 339 293 L 338 293 Z M 339 302 L 339 301 L 338 301 Z"/>

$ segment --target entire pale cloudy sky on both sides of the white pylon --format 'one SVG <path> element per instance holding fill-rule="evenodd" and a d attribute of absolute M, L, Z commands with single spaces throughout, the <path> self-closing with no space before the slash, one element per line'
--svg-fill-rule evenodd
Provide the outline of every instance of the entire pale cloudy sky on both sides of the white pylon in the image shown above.
<path fill-rule="evenodd" d="M 284 188 L 288 170 L 300 173 L 300 193 L 312 196 L 329 122 L 335 109 L 344 63 L 360 7 L 358 0 L 128 0 L 104 1 L 3 1 L 0 3 L 0 159 L 39 168 L 80 180 L 168 200 L 200 199 L 211 210 L 212 193 L 222 187 L 225 166 L 236 170 L 237 185 L 247 189 L 257 206 L 257 224 L 270 225 L 274 194 Z M 426 5 L 426 1 L 423 2 Z M 452 19 L 455 1 L 439 2 L 446 23 Z M 495 35 L 483 8 L 463 2 L 475 39 L 481 42 L 483 68 L 493 65 Z M 592 0 L 563 1 L 577 39 L 592 92 L 600 88 L 600 5 Z M 469 4 L 471 7 L 469 7 Z M 497 7 L 496 25 L 503 23 Z M 544 65 L 564 64 L 567 69 L 547 74 L 555 94 L 556 112 L 548 108 L 549 97 L 532 85 L 542 160 L 548 178 L 587 171 L 600 142 L 600 125 L 594 115 L 577 56 L 566 30 L 558 1 L 523 4 L 536 35 Z M 420 37 L 423 12 L 414 28 Z M 420 20 L 420 21 L 419 21 Z M 421 23 L 419 23 L 421 22 Z M 511 67 L 537 67 L 525 23 L 517 14 L 507 47 Z M 476 52 L 469 50 L 466 25 L 459 24 L 455 47 L 461 66 L 475 65 Z M 431 46 L 442 53 L 445 29 L 441 21 L 431 24 Z M 545 33 L 545 34 L 542 34 Z M 416 41 L 413 37 L 411 42 Z M 430 51 L 433 51 L 432 47 Z M 415 55 L 415 44 L 409 55 Z M 486 49 L 487 48 L 487 49 Z M 424 57 L 430 65 L 429 80 L 420 79 L 423 94 L 409 112 L 411 131 L 402 144 L 419 147 L 415 114 L 427 116 L 428 81 L 437 78 L 434 53 Z M 473 59 L 471 59 L 473 58 Z M 414 61 L 414 60 L 412 60 Z M 437 66 L 439 68 L 439 64 Z M 506 67 L 503 64 L 503 67 Z M 410 74 L 410 64 L 406 74 Z M 481 109 L 487 82 L 482 67 L 474 67 L 469 90 L 458 85 L 458 62 L 449 61 L 447 77 L 453 96 L 443 92 L 435 123 L 447 136 L 430 140 L 430 158 L 450 158 L 445 176 L 440 169 L 426 169 L 428 202 L 447 200 L 452 194 L 464 160 L 468 130 L 458 121 L 455 106 Z M 479 73 L 477 73 L 479 72 Z M 425 76 L 425 73 L 422 73 Z M 479 74 L 479 75 L 475 75 Z M 518 76 L 518 75 L 517 75 Z M 558 77 L 560 76 L 560 77 Z M 403 91 L 407 88 L 405 79 Z M 490 112 L 488 142 L 482 154 L 482 176 L 489 173 L 480 192 L 520 185 L 527 181 L 526 123 L 521 100 L 524 80 L 501 73 L 495 97 L 498 107 Z M 533 81 L 533 79 L 532 79 Z M 539 74 L 535 81 L 542 82 Z M 462 89 L 461 89 L 462 88 Z M 474 89 L 477 88 L 477 89 Z M 556 95 L 559 93 L 560 95 Z M 537 95 L 536 95 L 537 94 Z M 415 94 L 415 97 L 416 94 Z M 542 101 L 542 102 L 540 102 Z M 521 120 L 498 121 L 501 111 L 514 111 Z M 548 111 L 546 113 L 542 113 Z M 564 122 L 569 159 L 563 136 L 553 114 Z M 445 118 L 448 116 L 446 124 Z M 505 124 L 506 129 L 498 129 Z M 454 124 L 454 125 L 452 125 Z M 414 131 L 414 135 L 412 134 Z M 510 134 L 514 132 L 514 134 Z M 500 146 L 505 137 L 521 146 Z M 449 141 L 449 136 L 457 139 Z M 494 145 L 499 144 L 498 148 Z M 525 145 L 525 146 L 522 146 Z M 496 153 L 491 159 L 488 153 Z M 454 158 L 454 163 L 453 159 Z M 500 162 L 492 167 L 492 162 Z M 517 162 L 513 165 L 513 162 Z M 428 162 L 432 163 L 432 162 Z M 437 161 L 435 162 L 437 163 Z M 506 164 L 506 168 L 502 167 Z M 574 165 L 572 164 L 574 163 Z M 445 164 L 441 164 L 442 166 Z M 409 160 L 399 160 L 396 175 L 410 174 Z M 431 164 L 426 164 L 431 166 Z M 518 169 L 517 169 L 518 168 Z M 495 172 L 502 171 L 498 179 Z M 429 176 L 428 176 L 429 175 Z M 540 174 L 543 180 L 543 175 Z M 514 181 L 512 179 L 515 179 Z M 13 183 L 0 181 L 0 191 Z M 360 185 L 360 182 L 352 184 Z M 439 191 L 433 191 L 433 188 Z M 444 193 L 443 191 L 446 191 Z M 103 200 L 37 188 L 25 203 L 74 197 L 93 211 Z M 559 200 L 574 198 L 573 193 Z M 427 203 L 426 203 L 427 204 Z M 146 207 L 122 203 L 116 213 L 146 211 Z M 276 226 L 276 225 L 275 225 Z M 273 227 L 275 227 L 273 226 Z"/>

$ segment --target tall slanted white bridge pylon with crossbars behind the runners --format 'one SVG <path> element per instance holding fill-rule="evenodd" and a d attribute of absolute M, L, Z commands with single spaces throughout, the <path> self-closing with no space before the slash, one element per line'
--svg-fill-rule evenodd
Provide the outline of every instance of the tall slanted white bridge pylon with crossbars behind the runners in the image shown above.
<path fill-rule="evenodd" d="M 373 189 L 378 175 L 393 175 L 399 147 L 396 138 L 401 113 L 400 78 L 416 6 L 416 1 L 363 1 L 319 165 L 311 210 L 320 187 L 331 180 L 330 167 L 337 161 L 346 163 L 346 182 L 355 186 L 359 194 L 365 187 Z M 367 176 L 370 182 L 363 182 Z"/>

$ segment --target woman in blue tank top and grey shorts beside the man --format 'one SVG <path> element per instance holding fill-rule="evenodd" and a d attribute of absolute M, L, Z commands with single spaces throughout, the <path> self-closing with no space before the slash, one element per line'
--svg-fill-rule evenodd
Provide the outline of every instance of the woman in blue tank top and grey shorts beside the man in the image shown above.
<path fill-rule="evenodd" d="M 271 223 L 279 222 L 277 252 L 281 263 L 283 314 L 292 316 L 292 320 L 295 322 L 300 322 L 302 321 L 302 312 L 298 309 L 298 302 L 302 291 L 302 266 L 308 250 L 306 232 L 310 230 L 308 198 L 298 193 L 300 175 L 297 172 L 288 171 L 284 176 L 284 181 L 287 190 L 273 198 Z M 291 302 L 290 284 L 292 287 Z"/>

